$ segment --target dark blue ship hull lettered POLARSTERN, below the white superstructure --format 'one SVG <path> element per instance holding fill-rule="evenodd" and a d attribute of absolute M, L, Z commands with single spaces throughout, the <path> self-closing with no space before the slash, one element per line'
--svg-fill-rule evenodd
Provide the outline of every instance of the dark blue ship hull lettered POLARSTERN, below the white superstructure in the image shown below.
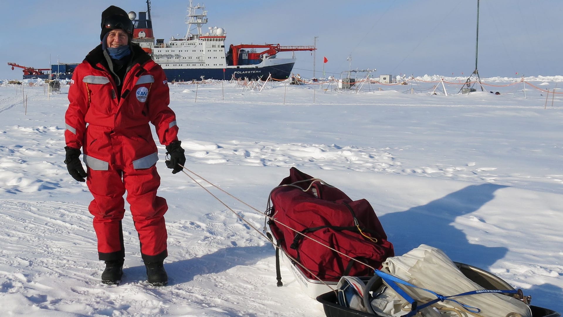
<path fill-rule="evenodd" d="M 249 80 L 266 80 L 270 74 L 276 80 L 286 80 L 291 75 L 294 63 L 257 68 L 176 68 L 164 69 L 166 78 L 172 81 L 193 81 L 203 79 L 231 80 L 233 74 L 236 79 L 248 78 Z"/>

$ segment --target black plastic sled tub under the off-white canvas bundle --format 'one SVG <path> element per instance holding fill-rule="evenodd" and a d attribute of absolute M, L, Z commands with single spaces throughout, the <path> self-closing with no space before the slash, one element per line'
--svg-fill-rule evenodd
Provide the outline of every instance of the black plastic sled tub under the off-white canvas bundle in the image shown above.
<path fill-rule="evenodd" d="M 463 263 L 458 263 L 458 262 L 454 262 L 454 263 L 455 265 L 457 265 L 459 270 L 463 272 L 463 275 L 467 276 L 468 279 L 479 284 L 484 289 L 514 289 L 506 281 L 504 281 L 503 279 L 499 278 L 498 276 L 488 271 Z M 361 279 L 367 282 L 370 278 L 361 278 Z M 377 289 L 377 287 L 379 287 L 381 283 L 382 282 L 375 283 L 372 289 Z M 328 293 L 321 294 L 316 298 L 316 300 L 321 304 L 323 304 L 324 313 L 325 315 L 327 315 L 327 317 L 379 316 L 377 314 L 370 314 L 368 312 L 363 312 L 363 311 L 341 306 L 338 303 L 336 292 L 330 291 Z M 534 306 L 534 305 L 530 305 L 530 310 L 532 317 L 560 317 L 561 316 L 561 314 L 559 314 L 556 311 L 543 307 Z"/>

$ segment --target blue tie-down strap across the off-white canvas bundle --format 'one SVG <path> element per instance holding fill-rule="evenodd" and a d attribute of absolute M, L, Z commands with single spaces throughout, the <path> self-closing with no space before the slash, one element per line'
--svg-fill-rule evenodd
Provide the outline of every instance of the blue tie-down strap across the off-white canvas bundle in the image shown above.
<path fill-rule="evenodd" d="M 389 287 L 391 287 L 393 290 L 395 290 L 395 292 L 397 292 L 397 294 L 399 294 L 401 297 L 403 297 L 405 299 L 405 301 L 410 303 L 410 307 L 411 310 L 410 312 L 408 312 L 408 314 L 403 315 L 401 317 L 411 317 L 414 316 L 415 314 L 417 314 L 417 312 L 421 309 L 424 309 L 434 303 L 437 302 L 443 302 L 443 301 L 452 301 L 457 303 L 458 305 L 461 305 L 464 309 L 466 309 L 467 311 L 470 312 L 475 312 L 476 314 L 479 314 L 479 312 L 481 312 L 481 310 L 477 307 L 473 307 L 473 306 L 469 306 L 469 305 L 464 305 L 456 300 L 453 300 L 452 297 L 458 297 L 458 296 L 466 296 L 466 295 L 475 295 L 475 294 L 484 294 L 484 293 L 508 293 L 508 294 L 516 294 L 518 291 L 515 289 L 505 289 L 505 290 L 499 290 L 499 289 L 477 289 L 477 290 L 471 290 L 470 292 L 465 292 L 465 293 L 461 293 L 461 294 L 457 294 L 457 295 L 450 295 L 450 296 L 444 296 L 444 295 L 440 295 L 436 292 L 433 292 L 430 289 L 426 289 L 426 288 L 422 288 L 422 287 L 418 287 L 416 285 L 410 284 L 407 281 L 401 280 L 399 278 L 397 278 L 396 276 L 393 276 L 391 274 L 387 274 L 385 272 L 376 270 L 376 275 L 379 276 L 380 278 L 382 278 L 383 280 L 386 281 L 386 283 L 389 285 Z M 432 300 L 430 302 L 427 303 L 423 303 L 422 305 L 418 305 L 418 303 L 413 300 L 412 297 L 410 297 L 403 289 L 401 289 L 399 287 L 398 284 L 403 284 L 406 285 L 408 287 L 414 287 L 414 288 L 418 288 L 418 289 L 422 289 L 425 290 L 428 293 L 433 294 L 434 296 L 436 296 L 435 300 Z"/>

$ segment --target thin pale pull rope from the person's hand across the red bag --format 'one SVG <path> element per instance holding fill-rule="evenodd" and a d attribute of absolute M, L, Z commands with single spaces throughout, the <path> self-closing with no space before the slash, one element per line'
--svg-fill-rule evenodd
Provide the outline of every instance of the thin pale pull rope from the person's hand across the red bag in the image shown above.
<path fill-rule="evenodd" d="M 266 213 L 264 213 L 264 212 L 262 212 L 262 211 L 260 211 L 260 210 L 258 210 L 258 209 L 256 209 L 256 208 L 254 208 L 253 206 L 247 204 L 246 202 L 244 202 L 244 201 L 238 199 L 238 197 L 235 197 L 235 196 L 231 195 L 229 192 L 223 190 L 221 187 L 218 187 L 216 184 L 213 184 L 212 182 L 209 182 L 209 180 L 203 178 L 202 176 L 200 176 L 199 174 L 195 173 L 194 171 L 192 171 L 192 170 L 186 168 L 186 166 L 181 165 L 181 164 L 178 164 L 178 165 L 180 165 L 180 166 L 182 166 L 182 168 L 184 168 L 184 169 L 182 169 L 182 173 L 186 174 L 187 177 L 189 177 L 191 180 L 193 180 L 196 184 L 198 184 L 200 187 L 202 187 L 205 191 L 207 191 L 207 192 L 209 193 L 209 195 L 215 197 L 215 199 L 217 199 L 219 202 L 221 202 L 222 205 L 224 205 L 227 209 L 229 209 L 231 212 L 233 212 L 233 213 L 236 215 L 236 217 L 240 218 L 243 222 L 247 223 L 249 227 L 253 228 L 253 229 L 256 230 L 261 236 L 265 237 L 266 240 L 270 241 L 270 243 L 271 243 L 272 245 L 274 245 L 275 248 L 278 248 L 278 246 L 276 246 L 276 245 L 273 243 L 273 241 L 271 241 L 265 234 L 263 234 L 263 232 L 261 232 L 260 230 L 258 230 L 258 229 L 257 229 L 256 227 L 254 227 L 251 223 L 249 223 L 246 219 L 244 219 L 241 215 L 239 215 L 239 214 L 236 213 L 233 209 L 231 209 L 229 206 L 227 206 L 227 204 L 225 204 L 225 202 L 223 202 L 223 201 L 222 201 L 221 199 L 219 199 L 217 196 L 213 195 L 212 192 L 210 192 L 207 188 L 203 187 L 202 184 L 200 184 L 200 183 L 199 183 L 198 181 L 196 181 L 193 177 L 191 177 L 191 175 L 187 174 L 186 171 L 189 171 L 191 174 L 194 174 L 196 177 L 198 177 L 198 178 L 204 180 L 204 182 L 206 182 L 206 183 L 208 183 L 209 185 L 211 185 L 211 186 L 217 188 L 217 189 L 220 190 L 221 192 L 224 192 L 226 195 L 228 195 L 228 196 L 232 197 L 233 199 L 235 199 L 236 201 L 239 201 L 239 202 L 241 202 L 242 204 L 248 206 L 248 207 L 251 208 L 252 210 L 254 210 L 254 211 L 258 212 L 258 213 L 261 213 L 261 214 L 265 215 L 265 217 L 267 217 L 267 218 L 270 219 L 271 221 L 274 221 L 274 222 L 277 223 L 277 224 L 280 224 L 280 226 L 286 227 L 286 228 L 288 228 L 289 230 L 295 232 L 296 234 L 302 235 L 303 237 L 306 237 L 307 239 L 310 239 L 310 240 L 312 240 L 312 241 L 315 241 L 315 243 L 318 243 L 318 244 L 324 246 L 325 248 L 328 248 L 328 249 L 330 249 L 330 250 L 333 250 L 334 252 L 340 254 L 340 255 L 343 256 L 343 257 L 346 257 L 346 258 L 350 259 L 351 261 L 355 261 L 355 262 L 361 263 L 361 265 L 367 266 L 367 267 L 371 268 L 371 269 L 374 270 L 374 271 L 377 270 L 375 267 L 370 266 L 370 265 L 368 265 L 367 263 L 361 262 L 361 261 L 359 261 L 358 259 L 355 259 L 355 258 L 353 258 L 353 257 L 351 257 L 351 256 L 348 256 L 347 254 L 344 254 L 344 253 L 342 253 L 342 252 L 340 252 L 340 251 L 338 251 L 338 250 L 336 250 L 336 249 L 330 247 L 329 245 L 326 245 L 326 244 L 322 243 L 321 241 L 318 241 L 318 240 L 314 239 L 313 237 L 307 236 L 307 235 L 303 234 L 302 232 L 297 231 L 297 230 L 295 230 L 295 229 L 292 228 L 292 227 L 289 227 L 287 224 L 282 223 L 282 222 L 278 221 L 277 219 L 274 219 L 274 218 L 271 217 L 270 215 L 267 215 Z M 185 170 L 186 170 L 186 171 L 185 171 Z M 297 183 L 309 182 L 309 181 L 311 181 L 311 180 L 312 180 L 312 182 L 311 182 L 310 186 L 307 187 L 307 190 L 303 190 L 302 187 L 296 185 Z M 269 209 L 271 208 L 271 199 L 270 199 L 270 197 L 271 197 L 272 191 L 274 191 L 276 188 L 291 186 L 291 187 L 300 188 L 300 190 L 302 190 L 302 191 L 308 191 L 308 190 L 310 190 L 310 188 L 312 187 L 312 183 L 314 183 L 314 182 L 321 182 L 321 183 L 324 183 L 324 184 L 327 185 L 327 186 L 334 187 L 334 186 L 329 185 L 328 183 L 324 182 L 323 180 L 321 180 L 321 179 L 319 179 L 319 178 L 298 180 L 297 182 L 294 182 L 294 183 L 291 183 L 291 184 L 284 184 L 284 185 L 276 186 L 274 189 L 272 189 L 272 190 L 270 191 L 270 195 L 268 196 L 267 209 L 269 210 Z M 266 230 L 266 226 L 264 226 L 264 231 L 265 231 L 265 230 Z M 293 258 L 293 257 L 290 256 L 287 252 L 285 252 L 284 249 L 280 248 L 280 250 L 282 250 L 282 252 L 283 252 L 288 258 L 292 259 L 292 261 L 294 261 L 294 262 L 297 263 L 299 266 L 301 266 L 302 268 L 304 268 L 304 269 L 305 269 L 307 272 L 309 272 L 312 276 L 315 276 L 315 278 L 318 279 L 321 283 L 327 285 L 330 289 L 332 289 L 334 292 L 336 292 L 336 290 L 334 290 L 332 287 L 330 287 L 330 286 L 329 286 L 327 283 L 325 283 L 323 280 L 319 279 L 319 277 L 316 276 L 315 274 L 313 274 L 308 268 L 306 268 L 306 267 L 303 266 L 301 263 L 299 263 L 299 262 L 297 261 L 297 259 Z"/>

